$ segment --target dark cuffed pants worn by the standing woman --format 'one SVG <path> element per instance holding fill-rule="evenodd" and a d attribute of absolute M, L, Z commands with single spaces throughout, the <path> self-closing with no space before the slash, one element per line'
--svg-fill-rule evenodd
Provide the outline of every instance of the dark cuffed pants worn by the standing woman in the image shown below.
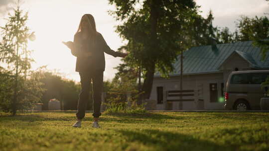
<path fill-rule="evenodd" d="M 90 83 L 93 82 L 93 116 L 98 118 L 101 115 L 100 108 L 102 103 L 103 90 L 103 71 L 93 71 L 79 73 L 81 92 L 79 94 L 77 119 L 81 120 L 85 116 L 85 110 L 90 94 Z"/>

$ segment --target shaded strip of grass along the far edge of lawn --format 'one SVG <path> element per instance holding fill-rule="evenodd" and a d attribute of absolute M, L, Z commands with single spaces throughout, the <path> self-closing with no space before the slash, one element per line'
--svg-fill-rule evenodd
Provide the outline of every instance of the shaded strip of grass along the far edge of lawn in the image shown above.
<path fill-rule="evenodd" d="M 40 114 L 39 114 L 40 113 Z M 48 113 L 48 114 L 46 114 Z M 64 114 L 67 113 L 67 114 Z M 68 114 L 68 113 L 73 113 Z M 85 121 L 92 120 L 92 112 L 86 112 Z M 139 123 L 147 121 L 149 123 L 161 123 L 165 120 L 199 120 L 200 118 L 212 118 L 212 119 L 232 119 L 232 120 L 253 120 L 253 119 L 262 119 L 263 121 L 269 121 L 269 114 L 264 113 L 202 113 L 203 115 L 169 115 L 166 113 L 117 113 L 113 115 L 103 114 L 101 116 L 101 121 L 104 122 L 119 122 L 119 123 Z M 10 116 L 8 114 L 2 114 L 1 120 L 12 121 L 74 121 L 76 120 L 75 111 L 52 111 L 52 112 L 27 112 L 27 114 Z"/>

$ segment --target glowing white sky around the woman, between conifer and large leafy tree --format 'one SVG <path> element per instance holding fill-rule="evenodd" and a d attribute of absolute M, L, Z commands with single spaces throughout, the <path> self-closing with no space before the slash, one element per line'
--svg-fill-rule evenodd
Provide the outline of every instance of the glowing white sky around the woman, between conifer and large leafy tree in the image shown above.
<path fill-rule="evenodd" d="M 123 45 L 115 33 L 116 21 L 108 14 L 113 6 L 107 1 L 99 0 L 29 0 L 23 3 L 23 10 L 28 11 L 28 26 L 30 32 L 35 32 L 36 39 L 29 41 L 28 48 L 34 50 L 32 57 L 35 63 L 32 68 L 47 66 L 49 70 L 64 73 L 64 76 L 76 81 L 80 80 L 75 72 L 76 58 L 62 41 L 73 41 L 83 14 L 91 13 L 95 17 L 97 30 L 103 34 L 111 49 Z M 120 58 L 105 55 L 106 71 L 104 79 L 113 78 L 114 67 Z"/>

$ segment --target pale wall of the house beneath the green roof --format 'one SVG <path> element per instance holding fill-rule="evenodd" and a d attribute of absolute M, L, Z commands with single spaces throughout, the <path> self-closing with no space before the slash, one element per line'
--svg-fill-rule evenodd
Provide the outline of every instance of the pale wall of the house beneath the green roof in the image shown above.
<path fill-rule="evenodd" d="M 221 97 L 221 83 L 223 83 L 223 73 L 204 74 L 204 75 L 183 75 L 182 81 L 183 81 L 182 82 L 183 90 L 197 89 L 198 85 L 202 85 L 204 109 L 223 109 L 223 106 L 224 106 L 223 102 L 210 102 L 210 89 L 209 89 L 210 83 L 217 83 L 218 96 Z M 156 91 L 157 86 L 162 86 L 163 91 L 179 90 L 180 76 L 173 76 L 173 77 L 170 77 L 169 79 L 164 79 L 164 78 L 153 79 L 150 99 L 154 99 L 156 101 L 157 101 L 157 91 Z M 165 97 L 165 95 L 163 97 Z M 172 109 L 173 110 L 179 110 L 179 109 L 195 110 L 197 109 L 197 106 L 196 106 L 195 101 L 173 102 Z M 157 104 L 156 110 L 163 110 L 163 104 Z"/>

